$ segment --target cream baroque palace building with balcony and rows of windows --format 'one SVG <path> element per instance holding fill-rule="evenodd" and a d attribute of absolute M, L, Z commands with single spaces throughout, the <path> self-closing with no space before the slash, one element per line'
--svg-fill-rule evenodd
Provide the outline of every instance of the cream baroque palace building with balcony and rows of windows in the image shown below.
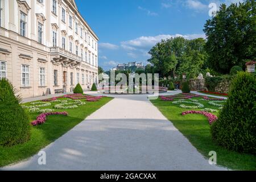
<path fill-rule="evenodd" d="M 0 78 L 23 98 L 97 84 L 97 44 L 75 0 L 0 0 Z"/>

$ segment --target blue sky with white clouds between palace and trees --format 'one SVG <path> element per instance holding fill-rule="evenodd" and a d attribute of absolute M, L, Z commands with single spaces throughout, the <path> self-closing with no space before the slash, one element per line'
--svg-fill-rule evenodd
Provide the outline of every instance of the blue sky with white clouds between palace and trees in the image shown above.
<path fill-rule="evenodd" d="M 209 4 L 239 0 L 76 0 L 80 13 L 100 38 L 98 65 L 104 70 L 118 63 L 142 61 L 161 39 L 205 38 L 203 27 Z"/>

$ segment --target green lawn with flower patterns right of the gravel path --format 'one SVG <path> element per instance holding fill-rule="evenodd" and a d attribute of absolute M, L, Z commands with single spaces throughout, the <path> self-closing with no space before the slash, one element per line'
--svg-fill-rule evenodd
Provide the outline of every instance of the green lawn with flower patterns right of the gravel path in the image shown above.
<path fill-rule="evenodd" d="M 201 98 L 193 98 L 200 100 Z M 176 99 L 175 99 L 176 100 Z M 209 151 L 217 152 L 217 164 L 236 170 L 256 170 L 256 157 L 250 154 L 240 154 L 229 151 L 215 144 L 210 135 L 210 125 L 208 119 L 200 114 L 181 115 L 183 111 L 179 105 L 172 104 L 171 101 L 151 100 L 163 115 L 168 118 L 174 126 L 197 148 L 197 150 L 209 159 Z M 216 106 L 208 104 L 208 101 L 200 101 L 205 107 L 218 109 Z M 186 104 L 187 105 L 187 104 Z M 199 109 L 197 109 L 199 110 Z M 218 115 L 218 113 L 213 113 Z"/>

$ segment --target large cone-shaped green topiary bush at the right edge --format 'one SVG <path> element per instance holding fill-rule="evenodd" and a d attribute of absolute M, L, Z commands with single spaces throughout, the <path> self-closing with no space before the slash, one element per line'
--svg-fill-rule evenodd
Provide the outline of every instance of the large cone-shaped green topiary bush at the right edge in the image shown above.
<path fill-rule="evenodd" d="M 219 145 L 238 152 L 256 154 L 256 78 L 238 72 L 220 116 L 210 127 Z"/>

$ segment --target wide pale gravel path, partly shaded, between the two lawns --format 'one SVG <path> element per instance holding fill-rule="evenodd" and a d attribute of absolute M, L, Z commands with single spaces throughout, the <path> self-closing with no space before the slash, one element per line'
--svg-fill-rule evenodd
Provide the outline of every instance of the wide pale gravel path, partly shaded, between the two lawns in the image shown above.
<path fill-rule="evenodd" d="M 43 151 L 46 165 L 35 155 L 2 169 L 225 170 L 209 165 L 146 95 L 115 96 Z"/>

